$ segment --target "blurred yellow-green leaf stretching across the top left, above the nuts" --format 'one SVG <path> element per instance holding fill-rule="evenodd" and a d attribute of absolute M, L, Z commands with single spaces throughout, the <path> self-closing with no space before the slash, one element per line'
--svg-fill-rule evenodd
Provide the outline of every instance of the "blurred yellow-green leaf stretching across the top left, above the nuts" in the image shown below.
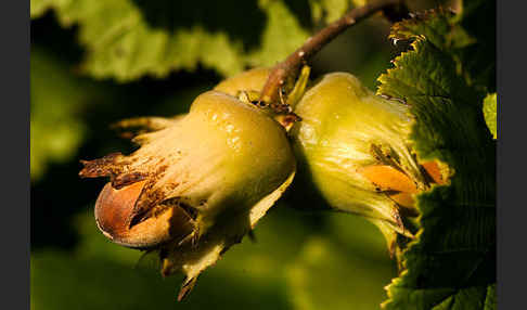
<path fill-rule="evenodd" d="M 207 10 L 168 0 L 30 4 L 31 18 L 53 9 L 64 27 L 79 25 L 78 39 L 87 51 L 83 73 L 119 81 L 144 75 L 160 78 L 198 65 L 230 76 L 248 65 L 274 64 L 308 36 L 281 0 L 209 1 Z"/>

